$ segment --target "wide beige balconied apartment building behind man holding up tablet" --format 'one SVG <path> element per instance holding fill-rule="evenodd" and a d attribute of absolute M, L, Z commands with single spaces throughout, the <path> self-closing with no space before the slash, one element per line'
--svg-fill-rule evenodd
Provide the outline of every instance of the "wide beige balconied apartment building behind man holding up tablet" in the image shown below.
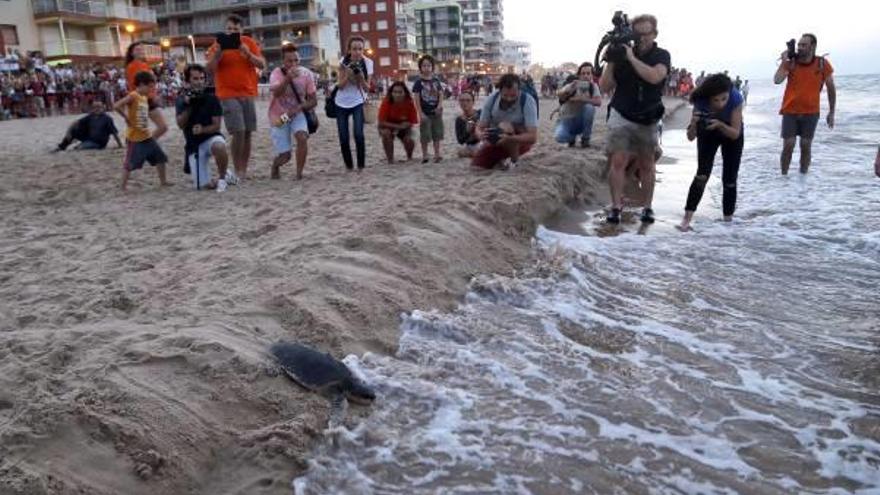
<path fill-rule="evenodd" d="M 334 0 L 147 0 L 158 14 L 158 38 L 171 55 L 204 62 L 226 18 L 244 19 L 245 33 L 258 41 L 270 63 L 281 60 L 282 43 L 299 47 L 301 63 L 329 73 L 339 63 L 339 29 Z"/>

